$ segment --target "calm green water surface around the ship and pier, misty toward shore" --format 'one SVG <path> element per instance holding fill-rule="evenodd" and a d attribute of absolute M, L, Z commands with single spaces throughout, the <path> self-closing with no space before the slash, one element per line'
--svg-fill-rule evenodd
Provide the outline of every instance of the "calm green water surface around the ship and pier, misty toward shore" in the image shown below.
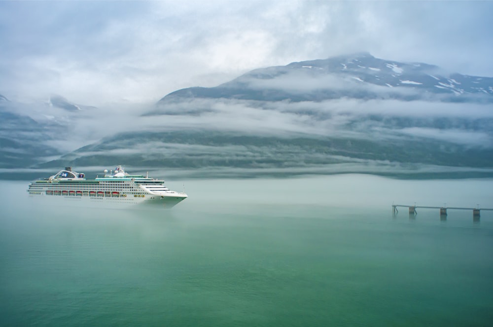
<path fill-rule="evenodd" d="M 181 190 L 181 183 L 169 183 Z M 163 214 L 38 207 L 2 182 L 4 326 L 487 326 L 492 180 L 192 180 Z"/>

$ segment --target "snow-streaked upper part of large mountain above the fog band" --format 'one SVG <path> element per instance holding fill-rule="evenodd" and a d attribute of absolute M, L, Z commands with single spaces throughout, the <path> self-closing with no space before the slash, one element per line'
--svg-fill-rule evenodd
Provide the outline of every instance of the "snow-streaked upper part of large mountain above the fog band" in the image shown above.
<path fill-rule="evenodd" d="M 170 93 L 149 114 L 192 98 L 323 101 L 336 98 L 493 103 L 493 78 L 448 74 L 435 65 L 400 63 L 368 53 L 252 70 L 212 88 Z"/>

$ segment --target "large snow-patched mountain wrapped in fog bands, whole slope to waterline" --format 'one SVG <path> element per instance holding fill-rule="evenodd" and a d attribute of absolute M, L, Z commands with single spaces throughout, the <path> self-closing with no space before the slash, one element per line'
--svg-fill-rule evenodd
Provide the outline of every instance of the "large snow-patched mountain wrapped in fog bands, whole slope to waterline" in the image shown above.
<path fill-rule="evenodd" d="M 367 53 L 259 68 L 217 87 L 170 93 L 131 124 L 109 115 L 113 134 L 32 167 L 493 177 L 492 87 L 491 77 Z M 78 114 L 70 117 L 80 124 Z"/>

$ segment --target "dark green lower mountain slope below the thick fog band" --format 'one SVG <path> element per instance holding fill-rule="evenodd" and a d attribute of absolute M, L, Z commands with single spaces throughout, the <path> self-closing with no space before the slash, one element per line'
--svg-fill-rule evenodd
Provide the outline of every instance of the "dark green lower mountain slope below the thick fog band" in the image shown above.
<path fill-rule="evenodd" d="M 493 177 L 493 170 L 487 168 L 492 158 L 492 149 L 425 138 L 380 142 L 310 134 L 283 137 L 186 130 L 121 133 L 38 167 L 126 163 L 141 172 L 166 169 L 174 171 L 173 175 L 199 178 L 334 173 L 458 178 Z"/>

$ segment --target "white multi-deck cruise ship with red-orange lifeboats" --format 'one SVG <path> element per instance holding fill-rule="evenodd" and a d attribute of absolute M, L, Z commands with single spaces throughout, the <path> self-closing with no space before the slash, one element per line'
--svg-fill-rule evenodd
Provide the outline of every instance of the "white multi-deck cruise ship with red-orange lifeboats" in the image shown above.
<path fill-rule="evenodd" d="M 148 176 L 130 175 L 118 165 L 115 170 L 105 169 L 104 177 L 86 179 L 83 173 L 65 167 L 57 174 L 36 180 L 29 185 L 29 195 L 59 201 L 78 201 L 85 204 L 144 204 L 171 208 L 188 196 L 171 191 L 163 180 Z"/>

